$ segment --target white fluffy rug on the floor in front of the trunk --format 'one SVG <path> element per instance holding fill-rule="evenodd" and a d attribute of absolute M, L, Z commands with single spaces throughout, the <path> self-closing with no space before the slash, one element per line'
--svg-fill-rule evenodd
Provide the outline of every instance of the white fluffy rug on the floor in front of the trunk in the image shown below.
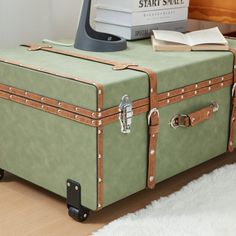
<path fill-rule="evenodd" d="M 236 164 L 222 167 L 94 236 L 235 236 Z"/>

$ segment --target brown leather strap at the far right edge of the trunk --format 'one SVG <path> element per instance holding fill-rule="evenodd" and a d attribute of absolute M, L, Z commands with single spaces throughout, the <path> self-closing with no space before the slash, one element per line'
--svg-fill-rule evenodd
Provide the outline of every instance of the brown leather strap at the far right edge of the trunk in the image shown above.
<path fill-rule="evenodd" d="M 230 116 L 230 129 L 229 129 L 229 142 L 228 142 L 228 151 L 234 151 L 234 139 L 235 139 L 235 119 L 236 119 L 236 68 L 235 68 L 235 56 L 236 50 L 230 49 L 230 51 L 234 55 L 234 63 L 233 63 L 233 74 L 234 74 L 234 84 L 232 87 L 232 108 L 231 108 L 231 116 Z"/>

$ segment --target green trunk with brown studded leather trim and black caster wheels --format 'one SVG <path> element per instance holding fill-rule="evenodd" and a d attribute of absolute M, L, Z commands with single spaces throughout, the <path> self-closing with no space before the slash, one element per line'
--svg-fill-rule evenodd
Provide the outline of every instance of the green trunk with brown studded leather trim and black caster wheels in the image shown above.
<path fill-rule="evenodd" d="M 154 52 L 150 40 L 113 53 L 2 49 L 0 175 L 67 198 L 83 221 L 233 151 L 232 89 L 231 51 Z"/>

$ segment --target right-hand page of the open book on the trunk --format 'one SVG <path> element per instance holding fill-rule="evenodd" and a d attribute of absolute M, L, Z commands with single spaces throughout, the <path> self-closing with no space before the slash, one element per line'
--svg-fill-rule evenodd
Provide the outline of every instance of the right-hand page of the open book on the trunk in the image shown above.
<path fill-rule="evenodd" d="M 228 44 L 218 27 L 186 34 L 190 46 L 199 44 Z"/>

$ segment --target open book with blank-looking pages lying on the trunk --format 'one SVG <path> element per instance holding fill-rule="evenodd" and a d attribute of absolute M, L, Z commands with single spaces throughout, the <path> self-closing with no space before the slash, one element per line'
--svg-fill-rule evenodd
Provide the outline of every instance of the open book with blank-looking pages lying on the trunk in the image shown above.
<path fill-rule="evenodd" d="M 228 50 L 228 42 L 218 29 L 180 33 L 153 30 L 152 45 L 155 51 Z"/>

